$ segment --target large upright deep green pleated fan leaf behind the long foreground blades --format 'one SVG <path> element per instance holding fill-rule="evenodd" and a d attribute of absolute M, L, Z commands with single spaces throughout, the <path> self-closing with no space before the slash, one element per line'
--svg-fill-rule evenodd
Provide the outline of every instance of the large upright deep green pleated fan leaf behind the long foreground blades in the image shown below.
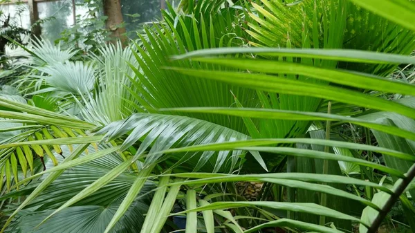
<path fill-rule="evenodd" d="M 136 54 L 136 58 L 142 71 L 133 67 L 135 77 L 132 80 L 134 85 L 131 91 L 140 93 L 137 97 L 140 105 L 153 113 L 156 112 L 154 109 L 169 106 L 232 106 L 234 104 L 232 93 L 234 93 L 244 106 L 257 106 L 259 102 L 253 90 L 178 75 L 165 68 L 174 64 L 181 67 L 209 67 L 214 70 L 221 68 L 220 66 L 201 66 L 199 62 L 172 62 L 169 57 L 200 48 L 216 48 L 243 43 L 239 37 L 245 32 L 236 23 L 240 19 L 234 13 L 235 11 L 237 9 L 227 8 L 223 9 L 223 12 L 218 12 L 216 16 L 206 17 L 200 14 L 199 18 L 187 15 L 176 15 L 175 18 L 165 13 L 165 25 L 147 28 L 148 39 L 142 38 L 142 48 L 136 46 L 140 53 L 140 55 Z M 186 115 L 246 133 L 243 122 L 236 118 L 205 114 Z"/>

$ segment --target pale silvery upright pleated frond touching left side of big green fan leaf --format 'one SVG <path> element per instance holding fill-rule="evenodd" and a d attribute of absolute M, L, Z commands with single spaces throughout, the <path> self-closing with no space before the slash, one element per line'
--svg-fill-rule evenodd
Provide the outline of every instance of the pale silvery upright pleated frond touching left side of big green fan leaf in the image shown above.
<path fill-rule="evenodd" d="M 140 110 L 137 94 L 129 91 L 129 77 L 133 76 L 130 66 L 138 68 L 131 48 L 105 46 L 100 49 L 100 54 L 93 56 L 93 61 L 99 64 L 98 72 L 95 72 L 97 85 L 93 93 L 85 93 L 82 101 L 77 101 L 82 118 L 105 125 Z"/>

